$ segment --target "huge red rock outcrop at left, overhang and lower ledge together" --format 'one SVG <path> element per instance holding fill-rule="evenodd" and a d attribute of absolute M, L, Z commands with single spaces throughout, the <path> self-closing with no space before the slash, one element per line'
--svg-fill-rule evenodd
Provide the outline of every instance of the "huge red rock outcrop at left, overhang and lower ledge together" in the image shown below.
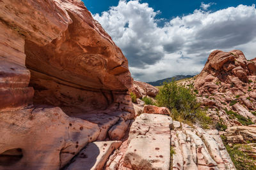
<path fill-rule="evenodd" d="M 60 169 L 126 130 L 127 59 L 83 2 L 3 0 L 0 18 L 0 169 Z"/>

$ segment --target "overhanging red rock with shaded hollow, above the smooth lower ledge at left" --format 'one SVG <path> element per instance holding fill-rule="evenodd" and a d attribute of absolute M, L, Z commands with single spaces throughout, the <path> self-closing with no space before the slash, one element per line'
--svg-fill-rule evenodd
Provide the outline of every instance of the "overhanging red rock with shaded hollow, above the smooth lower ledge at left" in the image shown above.
<path fill-rule="evenodd" d="M 1 94 L 17 92 L 14 99 L 5 101 L 4 108 L 31 104 L 29 81 L 35 90 L 34 103 L 60 106 L 67 113 L 106 110 L 119 95 L 115 91 L 125 94 L 131 87 L 127 59 L 81 1 L 0 4 L 0 28 L 5 32 L 1 79 L 8 79 L 1 83 Z M 24 92 L 27 96 L 24 90 L 29 91 Z"/>

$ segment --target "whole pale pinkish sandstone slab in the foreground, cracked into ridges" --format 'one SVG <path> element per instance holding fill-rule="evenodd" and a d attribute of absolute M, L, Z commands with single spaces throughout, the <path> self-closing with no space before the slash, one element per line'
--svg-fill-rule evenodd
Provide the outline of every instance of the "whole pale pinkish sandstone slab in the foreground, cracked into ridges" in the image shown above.
<path fill-rule="evenodd" d="M 190 127 L 159 113 L 142 113 L 132 122 L 129 137 L 109 157 L 106 169 L 230 170 L 236 167 L 218 131 Z"/>

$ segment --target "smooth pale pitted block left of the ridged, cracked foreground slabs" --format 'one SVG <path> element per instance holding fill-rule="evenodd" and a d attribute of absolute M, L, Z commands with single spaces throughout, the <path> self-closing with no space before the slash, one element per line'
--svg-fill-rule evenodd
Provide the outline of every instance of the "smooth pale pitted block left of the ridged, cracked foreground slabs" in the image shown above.
<path fill-rule="evenodd" d="M 143 113 L 137 117 L 129 132 L 124 166 L 130 169 L 170 169 L 170 124 L 172 118 L 166 115 Z"/>

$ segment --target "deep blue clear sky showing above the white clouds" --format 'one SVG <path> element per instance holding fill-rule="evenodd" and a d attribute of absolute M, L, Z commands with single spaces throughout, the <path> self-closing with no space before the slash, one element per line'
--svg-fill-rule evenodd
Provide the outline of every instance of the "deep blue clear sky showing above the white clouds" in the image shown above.
<path fill-rule="evenodd" d="M 83 0 L 88 10 L 95 13 L 102 13 L 102 11 L 108 11 L 110 6 L 117 6 L 119 0 Z M 216 11 L 230 6 L 237 6 L 239 4 L 252 5 L 256 3 L 255 0 L 141 0 L 141 3 L 148 3 L 150 7 L 156 11 L 161 11 L 157 17 L 170 19 L 172 17 L 188 15 L 200 7 L 201 3 L 216 3 L 212 5 L 209 10 Z"/>

